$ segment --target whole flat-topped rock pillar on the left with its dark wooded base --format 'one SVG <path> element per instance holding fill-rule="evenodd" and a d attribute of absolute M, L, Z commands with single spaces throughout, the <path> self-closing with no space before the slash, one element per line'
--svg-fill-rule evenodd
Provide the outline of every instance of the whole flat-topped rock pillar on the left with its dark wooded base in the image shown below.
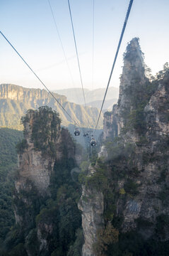
<path fill-rule="evenodd" d="M 73 255 L 83 242 L 76 203 L 80 187 L 72 171 L 78 169 L 81 146 L 76 150 L 59 114 L 49 107 L 28 110 L 22 123 L 13 192 L 16 225 L 6 236 L 6 255 Z"/>

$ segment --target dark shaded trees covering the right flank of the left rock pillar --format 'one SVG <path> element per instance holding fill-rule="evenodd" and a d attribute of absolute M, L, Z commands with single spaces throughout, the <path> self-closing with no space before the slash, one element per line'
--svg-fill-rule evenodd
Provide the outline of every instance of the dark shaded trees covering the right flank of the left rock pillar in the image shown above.
<path fill-rule="evenodd" d="M 36 215 L 35 228 L 40 228 L 42 238 L 50 244 L 47 255 L 80 256 L 83 234 L 81 233 L 81 213 L 77 207 L 80 186 L 71 178 L 74 159 L 64 154 L 54 165 L 54 173 L 49 187 L 51 196 L 41 202 Z M 52 227 L 49 233 L 46 227 Z M 79 237 L 77 236 L 79 234 Z M 45 249 L 44 249 L 45 250 Z"/>

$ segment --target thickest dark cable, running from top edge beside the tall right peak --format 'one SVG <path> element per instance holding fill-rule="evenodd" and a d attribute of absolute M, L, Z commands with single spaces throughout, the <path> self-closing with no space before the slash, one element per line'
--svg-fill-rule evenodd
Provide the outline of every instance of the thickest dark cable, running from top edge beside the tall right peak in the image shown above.
<path fill-rule="evenodd" d="M 128 6 L 128 9 L 127 9 L 127 14 L 126 14 L 126 17 L 125 17 L 125 20 L 124 20 L 124 25 L 123 25 L 123 27 L 122 27 L 122 33 L 121 33 L 121 35 L 120 35 L 120 40 L 119 40 L 119 43 L 118 43 L 118 46 L 117 46 L 117 50 L 116 50 L 116 53 L 115 53 L 115 59 L 114 59 L 113 64 L 112 64 L 112 69 L 111 69 L 111 72 L 110 72 L 110 77 L 109 77 L 109 80 L 108 80 L 108 82 L 107 82 L 107 87 L 106 87 L 106 90 L 105 90 L 105 95 L 104 95 L 104 98 L 103 98 L 102 106 L 101 106 L 101 108 L 100 108 L 100 113 L 99 113 L 99 116 L 98 116 L 98 121 L 97 121 L 97 124 L 96 124 L 96 126 L 95 126 L 95 131 L 96 131 L 97 127 L 98 127 L 98 122 L 99 122 L 99 119 L 100 119 L 100 114 L 101 114 L 101 112 L 102 112 L 102 110 L 103 110 L 103 105 L 104 105 L 104 102 L 105 102 L 105 97 L 106 97 L 106 95 L 107 95 L 107 90 L 108 90 L 108 87 L 109 87 L 109 85 L 110 85 L 110 80 L 111 80 L 111 78 L 112 78 L 112 72 L 113 72 L 113 70 L 114 70 L 114 68 L 115 68 L 115 63 L 116 63 L 116 60 L 117 60 L 117 55 L 118 55 L 119 50 L 120 50 L 120 46 L 121 46 L 121 43 L 122 43 L 122 38 L 123 38 L 123 36 L 124 36 L 124 31 L 125 31 L 125 28 L 126 28 L 126 26 L 127 26 L 127 21 L 128 21 L 128 18 L 129 18 L 130 11 L 131 11 L 131 9 L 132 9 L 133 1 L 134 1 L 134 0 L 130 0 L 130 1 L 129 1 L 129 6 Z"/>

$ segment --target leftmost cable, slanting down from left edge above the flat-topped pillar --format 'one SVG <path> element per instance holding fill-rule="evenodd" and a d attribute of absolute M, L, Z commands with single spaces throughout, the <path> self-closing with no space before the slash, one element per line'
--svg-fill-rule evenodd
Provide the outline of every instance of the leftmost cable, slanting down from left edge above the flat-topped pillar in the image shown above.
<path fill-rule="evenodd" d="M 71 118 L 71 120 L 74 121 L 74 124 L 77 125 L 76 121 L 74 120 L 74 118 L 71 117 L 71 115 L 65 110 L 65 108 L 62 106 L 62 104 L 60 104 L 60 102 L 57 100 L 57 98 L 53 95 L 53 93 L 47 88 L 47 86 L 45 85 L 44 82 L 42 82 L 42 80 L 40 80 L 40 78 L 36 75 L 36 73 L 33 71 L 32 68 L 30 68 L 30 65 L 28 65 L 28 63 L 24 60 L 24 58 L 21 56 L 20 53 L 18 53 L 18 51 L 16 50 L 16 48 L 8 41 L 8 39 L 6 38 L 6 36 L 4 36 L 4 33 L 2 33 L 0 31 L 1 35 L 5 38 L 5 40 L 8 42 L 8 44 L 13 48 L 13 50 L 15 50 L 15 52 L 18 54 L 18 56 L 23 60 L 23 62 L 25 63 L 25 65 L 27 65 L 27 67 L 32 71 L 32 73 L 35 75 L 35 77 L 42 83 L 42 85 L 46 88 L 46 90 L 49 92 L 50 95 L 52 95 L 52 97 L 54 97 L 54 100 L 56 100 L 56 102 L 59 104 L 60 107 L 62 107 L 62 109 L 64 110 L 64 112 L 66 112 L 66 114 Z"/>

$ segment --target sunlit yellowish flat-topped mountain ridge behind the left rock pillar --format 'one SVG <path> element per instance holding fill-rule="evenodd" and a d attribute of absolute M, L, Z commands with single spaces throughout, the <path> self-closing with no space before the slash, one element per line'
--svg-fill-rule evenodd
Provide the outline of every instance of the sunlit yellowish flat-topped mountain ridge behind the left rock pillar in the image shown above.
<path fill-rule="evenodd" d="M 73 90 L 71 90 L 73 95 Z M 69 102 L 65 96 L 54 93 L 54 96 L 76 121 L 79 126 L 95 127 L 99 110 L 95 107 L 83 107 L 74 102 Z M 71 118 L 62 110 L 62 107 L 54 100 L 46 90 L 24 88 L 18 85 L 0 85 L 0 127 L 22 129 L 21 117 L 28 109 L 37 109 L 47 105 L 59 112 L 64 126 L 72 124 Z M 103 115 L 100 118 L 98 128 L 103 126 Z"/>

